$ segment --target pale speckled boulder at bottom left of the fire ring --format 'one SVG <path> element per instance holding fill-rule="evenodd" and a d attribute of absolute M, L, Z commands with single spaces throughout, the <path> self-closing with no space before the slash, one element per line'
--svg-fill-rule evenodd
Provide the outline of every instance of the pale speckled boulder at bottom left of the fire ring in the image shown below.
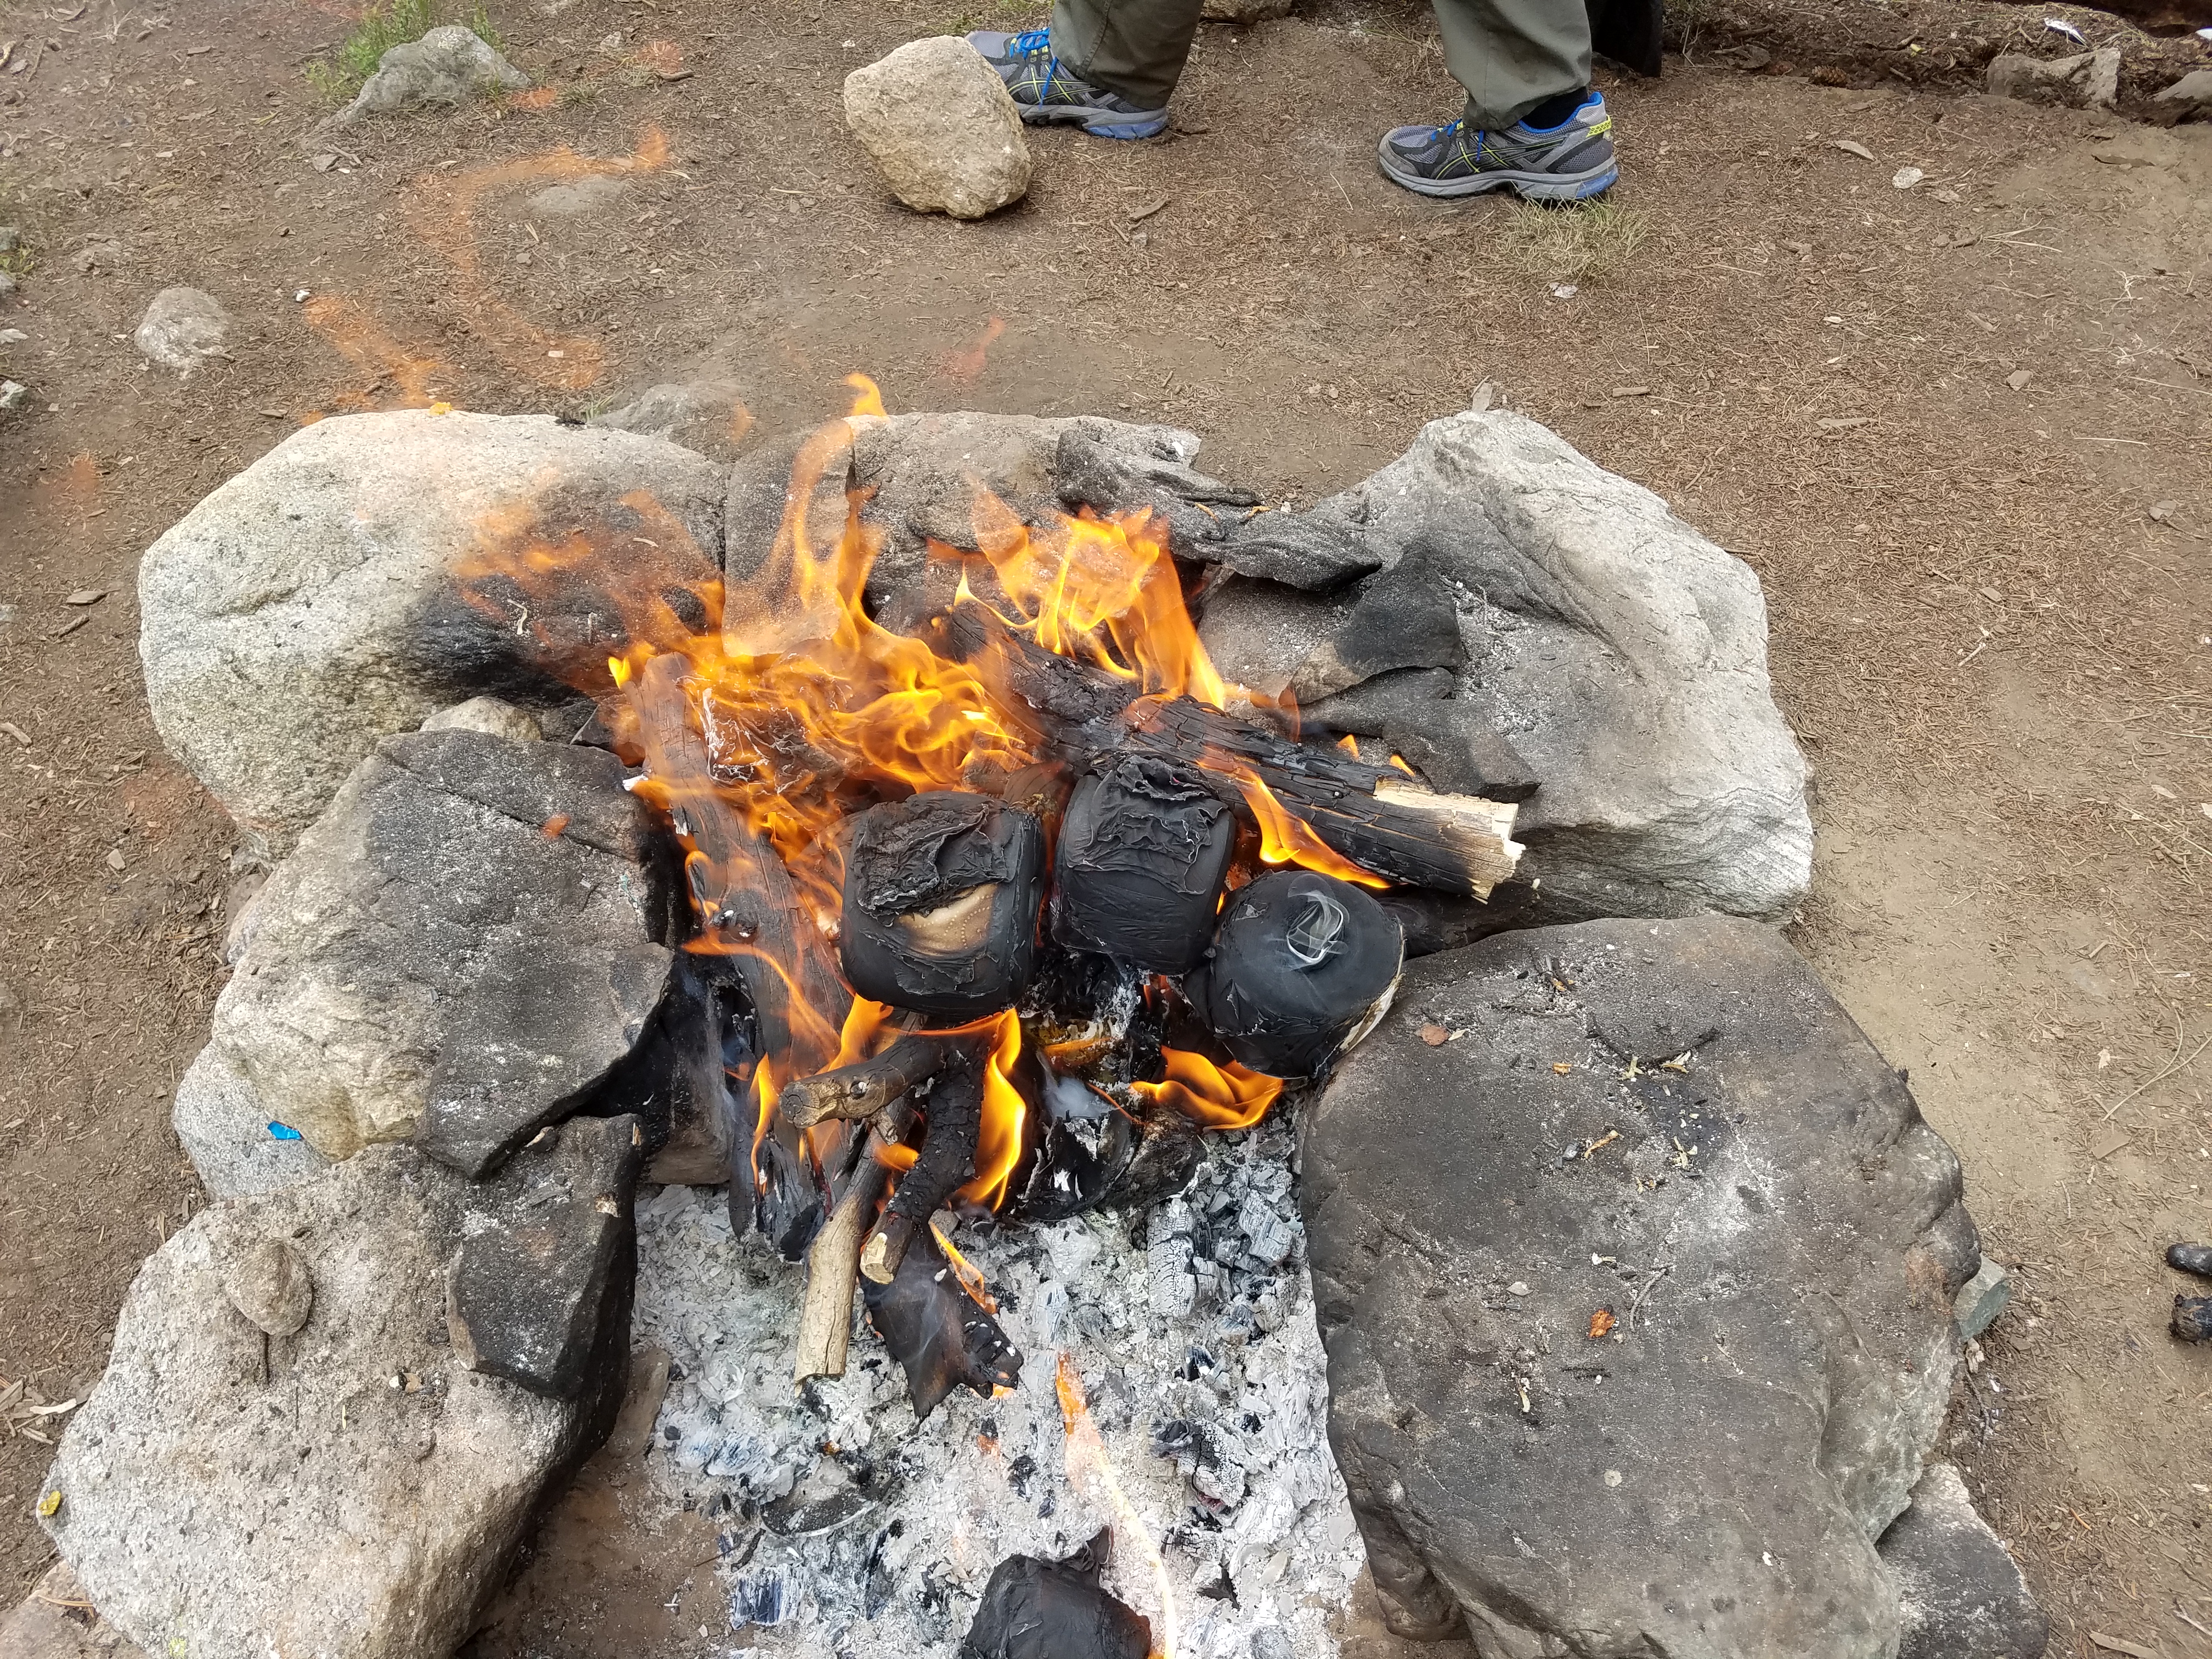
<path fill-rule="evenodd" d="M 633 1119 L 577 1124 L 586 1194 L 630 1228 Z M 155 1655 L 449 1659 L 535 1511 L 606 1438 L 628 1369 L 628 1279 L 573 1398 L 469 1369 L 447 1340 L 465 1241 L 526 1223 L 557 1148 L 473 1186 L 414 1148 L 217 1203 L 139 1270 L 100 1387 L 62 1436 L 46 1531 L 91 1601 Z M 226 1290 L 259 1241 L 312 1276 L 268 1336 Z"/>

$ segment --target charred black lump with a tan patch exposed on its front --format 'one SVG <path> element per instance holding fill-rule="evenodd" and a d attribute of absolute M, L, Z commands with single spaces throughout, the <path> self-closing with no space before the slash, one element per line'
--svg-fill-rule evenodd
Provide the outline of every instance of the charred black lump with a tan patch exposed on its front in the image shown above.
<path fill-rule="evenodd" d="M 1044 827 L 936 790 L 852 821 L 838 949 L 858 995 L 949 1020 L 1011 1004 L 1037 962 Z"/>

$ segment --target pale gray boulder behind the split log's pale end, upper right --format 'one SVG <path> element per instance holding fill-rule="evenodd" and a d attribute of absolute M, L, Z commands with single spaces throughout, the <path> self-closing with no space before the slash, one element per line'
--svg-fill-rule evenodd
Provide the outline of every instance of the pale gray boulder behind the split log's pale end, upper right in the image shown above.
<path fill-rule="evenodd" d="M 1221 584 L 1201 628 L 1214 666 L 1307 697 L 1418 677 L 1440 659 L 1338 644 L 1363 611 L 1402 613 L 1409 595 L 1378 608 L 1365 588 L 1418 560 L 1464 644 L 1453 719 L 1500 732 L 1540 783 L 1513 834 L 1542 920 L 1781 918 L 1805 896 L 1805 757 L 1774 708 L 1759 577 L 1657 495 L 1493 409 L 1429 422 L 1298 518 L 1345 557 L 1312 582 L 1276 557 L 1265 584 Z M 1239 564 L 1234 546 L 1223 562 Z M 1345 582 L 1358 566 L 1371 575 Z M 1307 714 L 1329 726 L 1329 703 Z"/>

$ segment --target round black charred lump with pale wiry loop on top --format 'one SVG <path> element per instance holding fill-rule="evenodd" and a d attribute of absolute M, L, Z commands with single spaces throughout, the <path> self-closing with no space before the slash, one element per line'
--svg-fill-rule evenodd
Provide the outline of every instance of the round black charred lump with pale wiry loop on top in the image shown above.
<path fill-rule="evenodd" d="M 1318 1077 L 1389 1006 L 1405 936 L 1352 883 L 1279 869 L 1241 887 L 1190 978 L 1190 1000 L 1234 1060 Z"/>

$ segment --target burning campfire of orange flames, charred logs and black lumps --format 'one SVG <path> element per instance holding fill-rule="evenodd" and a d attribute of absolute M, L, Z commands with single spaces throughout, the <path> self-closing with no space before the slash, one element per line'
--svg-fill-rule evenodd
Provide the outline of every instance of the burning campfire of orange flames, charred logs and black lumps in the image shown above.
<path fill-rule="evenodd" d="M 799 451 L 728 593 L 608 593 L 604 542 L 529 513 L 484 526 L 465 591 L 595 701 L 681 847 L 730 1219 L 807 1263 L 794 1378 L 843 1376 L 858 1287 L 927 1416 L 1022 1365 L 958 1225 L 1179 1192 L 1201 1130 L 1383 1018 L 1378 900 L 1486 898 L 1520 847 L 1513 805 L 1225 684 L 1148 511 L 1022 522 L 978 487 L 975 551 L 931 544 L 942 602 L 883 626 L 863 500 L 818 522 L 847 431 Z M 626 504 L 624 568 L 653 568 L 684 531 Z"/>

